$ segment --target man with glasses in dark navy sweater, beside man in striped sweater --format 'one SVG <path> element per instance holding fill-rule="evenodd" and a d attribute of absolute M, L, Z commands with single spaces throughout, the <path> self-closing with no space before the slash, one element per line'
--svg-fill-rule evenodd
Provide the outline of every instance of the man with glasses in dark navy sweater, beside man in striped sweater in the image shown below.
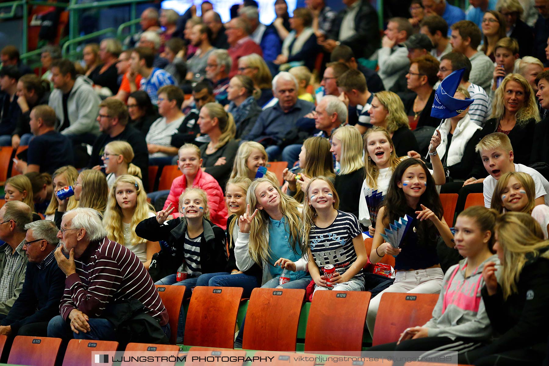
<path fill-rule="evenodd" d="M 48 220 L 26 224 L 25 230 L 23 250 L 29 258 L 25 283 L 8 316 L 0 322 L 0 334 L 46 337 L 49 320 L 59 314 L 65 288 L 65 275 L 54 258 L 59 230 Z"/>

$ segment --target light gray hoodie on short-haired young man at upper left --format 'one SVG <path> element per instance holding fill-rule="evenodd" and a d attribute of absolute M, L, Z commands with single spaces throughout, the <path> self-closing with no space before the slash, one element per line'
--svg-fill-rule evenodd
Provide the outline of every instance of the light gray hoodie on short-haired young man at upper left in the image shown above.
<path fill-rule="evenodd" d="M 62 134 L 99 134 L 99 124 L 96 119 L 101 99 L 93 90 L 92 84 L 86 76 L 76 77 L 67 100 L 70 125 L 61 131 Z M 60 89 L 53 89 L 48 105 L 55 110 L 55 115 L 60 121 L 59 126 L 63 125 L 63 92 Z"/>

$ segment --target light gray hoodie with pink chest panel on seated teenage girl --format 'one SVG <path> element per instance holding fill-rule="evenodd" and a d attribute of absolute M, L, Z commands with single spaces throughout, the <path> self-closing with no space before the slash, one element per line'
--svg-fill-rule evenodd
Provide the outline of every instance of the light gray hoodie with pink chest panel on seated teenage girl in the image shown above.
<path fill-rule="evenodd" d="M 481 263 L 467 278 L 467 258 L 446 271 L 433 317 L 423 325 L 429 329 L 429 337 L 490 339 L 492 328 L 480 294 L 484 286 L 482 271 L 487 262 L 494 262 L 496 268 L 500 268 L 500 271 L 496 271 L 498 277 L 501 267 L 496 255 Z"/>

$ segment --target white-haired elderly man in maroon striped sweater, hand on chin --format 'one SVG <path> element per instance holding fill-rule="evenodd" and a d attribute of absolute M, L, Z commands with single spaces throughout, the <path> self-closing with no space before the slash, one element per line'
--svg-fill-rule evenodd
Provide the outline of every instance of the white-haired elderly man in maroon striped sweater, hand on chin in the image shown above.
<path fill-rule="evenodd" d="M 128 311 L 136 309 L 135 304 L 142 309 L 140 316 L 154 327 L 150 330 L 156 330 L 155 336 L 167 332 L 169 337 L 168 314 L 147 269 L 130 249 L 107 238 L 96 210 L 78 207 L 65 212 L 57 237 L 55 260 L 66 279 L 60 316 L 49 322 L 49 337 L 65 344 L 73 338 L 121 341 L 113 322 L 119 322 L 116 311 L 126 304 Z M 149 338 L 132 336 L 144 337 L 143 342 Z"/>

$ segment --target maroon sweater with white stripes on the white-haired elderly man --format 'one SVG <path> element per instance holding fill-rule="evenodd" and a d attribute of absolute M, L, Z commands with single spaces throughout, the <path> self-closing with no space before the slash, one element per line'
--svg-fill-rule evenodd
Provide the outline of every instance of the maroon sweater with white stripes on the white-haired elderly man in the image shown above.
<path fill-rule="evenodd" d="M 106 237 L 94 241 L 80 258 L 75 258 L 75 264 L 76 273 L 66 278 L 59 305 L 65 320 L 75 308 L 89 317 L 101 317 L 109 302 L 136 299 L 161 326 L 168 322 L 168 313 L 147 269 L 124 245 Z"/>

